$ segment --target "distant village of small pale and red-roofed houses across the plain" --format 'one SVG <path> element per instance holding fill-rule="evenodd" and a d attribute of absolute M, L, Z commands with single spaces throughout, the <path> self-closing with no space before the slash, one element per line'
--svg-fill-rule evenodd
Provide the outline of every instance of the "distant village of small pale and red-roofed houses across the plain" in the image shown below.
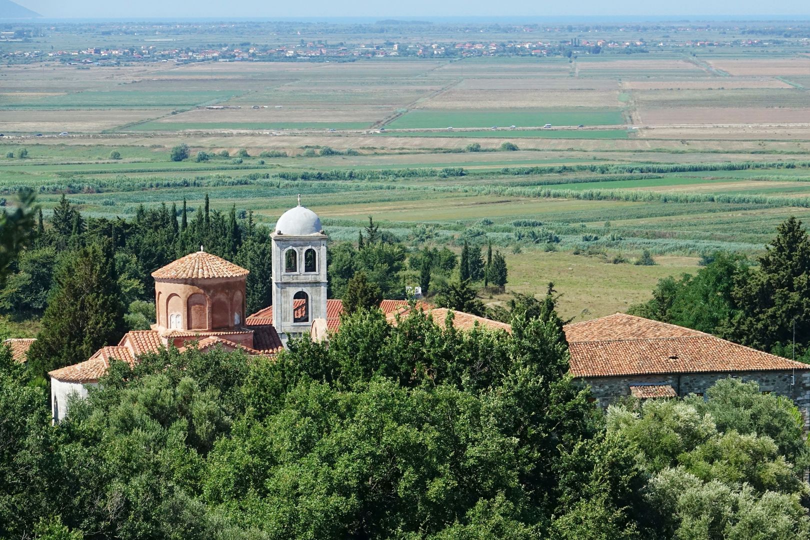
<path fill-rule="evenodd" d="M 564 32 L 561 28 L 518 28 L 523 35 L 531 33 L 544 33 L 553 36 Z M 701 28 L 676 28 L 673 32 L 689 34 L 700 33 Z M 46 32 L 41 30 L 39 33 Z M 0 32 L 0 46 L 11 45 L 14 42 L 32 41 L 36 32 L 25 30 L 9 30 Z M 300 33 L 300 32 L 299 32 Z M 481 30 L 480 33 L 486 34 Z M 588 30 L 584 33 L 606 34 L 605 31 Z M 625 33 L 625 28 L 612 29 L 612 34 Z M 628 29 L 628 34 L 642 34 L 635 29 Z M 709 32 L 706 32 L 709 33 Z M 724 33 L 724 32 L 720 32 Z M 716 29 L 711 35 L 716 36 Z M 132 35 L 122 33 L 131 41 Z M 137 35 L 137 34 L 136 34 Z M 454 40 L 450 42 L 435 43 L 403 43 L 393 40 L 382 40 L 380 43 L 346 44 L 342 41 L 331 40 L 305 40 L 298 43 L 289 43 L 277 47 L 261 45 L 221 45 L 212 48 L 211 45 L 200 47 L 178 46 L 187 41 L 181 37 L 171 37 L 170 32 L 144 32 L 144 44 L 139 47 L 100 46 L 88 44 L 83 49 L 58 50 L 7 50 L 0 49 L 0 54 L 11 62 L 41 62 L 58 60 L 68 65 L 120 65 L 122 62 L 257 62 L 257 61 L 284 61 L 284 60 L 315 60 L 328 62 L 347 62 L 359 58 L 378 57 L 508 57 L 508 56 L 535 56 L 535 57 L 578 57 L 603 52 L 609 53 L 648 53 L 652 50 L 680 50 L 680 49 L 706 49 L 708 47 L 768 47 L 781 45 L 781 40 L 771 38 L 729 39 L 729 40 L 679 40 L 676 36 L 664 34 L 667 39 L 648 42 L 643 38 L 617 39 L 615 37 L 573 37 L 566 40 L 559 39 L 515 39 L 515 40 Z M 559 36 L 555 36 L 559 38 Z M 90 38 L 92 39 L 92 38 Z M 109 41 L 109 35 L 104 35 Z M 370 40 L 369 40 L 370 41 Z M 375 40 L 376 41 L 376 40 Z M 792 45 L 810 47 L 808 38 L 799 38 Z"/>

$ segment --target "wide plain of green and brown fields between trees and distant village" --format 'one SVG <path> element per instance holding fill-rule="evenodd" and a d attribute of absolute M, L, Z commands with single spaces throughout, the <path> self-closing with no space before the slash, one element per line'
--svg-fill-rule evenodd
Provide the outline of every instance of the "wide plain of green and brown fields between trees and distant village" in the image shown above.
<path fill-rule="evenodd" d="M 409 244 L 492 242 L 507 292 L 553 281 L 566 317 L 625 309 L 701 255 L 753 256 L 788 216 L 810 219 L 806 56 L 82 68 L 0 73 L 6 204 L 27 185 L 45 215 L 66 193 L 115 218 L 208 194 L 274 223 L 301 193 L 333 240 L 372 215 Z M 180 143 L 190 159 L 173 162 Z M 656 266 L 633 265 L 644 250 Z"/>

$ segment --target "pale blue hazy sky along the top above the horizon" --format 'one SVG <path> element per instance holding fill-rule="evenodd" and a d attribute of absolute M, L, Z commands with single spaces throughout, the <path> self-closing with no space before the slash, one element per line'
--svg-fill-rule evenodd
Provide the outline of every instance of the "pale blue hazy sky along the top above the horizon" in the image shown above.
<path fill-rule="evenodd" d="M 810 15 L 808 0 L 580 0 L 538 2 L 537 0 L 409 0 L 380 2 L 360 0 L 15 0 L 45 17 L 429 17 L 492 15 Z"/>

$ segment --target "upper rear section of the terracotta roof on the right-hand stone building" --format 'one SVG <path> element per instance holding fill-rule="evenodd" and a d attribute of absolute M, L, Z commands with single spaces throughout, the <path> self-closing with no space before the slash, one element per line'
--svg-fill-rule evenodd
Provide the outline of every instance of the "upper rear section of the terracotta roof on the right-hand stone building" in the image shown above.
<path fill-rule="evenodd" d="M 637 338 L 686 338 L 707 336 L 703 332 L 670 325 L 666 322 L 650 321 L 625 313 L 616 313 L 591 321 L 582 321 L 565 326 L 565 338 L 569 343 L 603 341 L 608 339 Z"/>

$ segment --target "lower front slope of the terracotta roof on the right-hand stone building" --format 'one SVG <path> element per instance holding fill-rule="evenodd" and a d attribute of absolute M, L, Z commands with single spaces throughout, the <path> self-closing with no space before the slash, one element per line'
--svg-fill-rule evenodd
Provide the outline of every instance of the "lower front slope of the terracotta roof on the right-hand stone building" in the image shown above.
<path fill-rule="evenodd" d="M 707 334 L 573 342 L 569 351 L 571 374 L 584 377 L 810 369 Z"/>

